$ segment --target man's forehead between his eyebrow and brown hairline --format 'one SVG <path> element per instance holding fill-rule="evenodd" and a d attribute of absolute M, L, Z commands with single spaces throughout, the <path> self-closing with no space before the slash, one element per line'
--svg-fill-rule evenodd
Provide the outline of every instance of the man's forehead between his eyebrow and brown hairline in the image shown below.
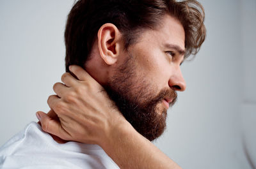
<path fill-rule="evenodd" d="M 166 46 L 166 44 L 177 45 L 185 50 L 185 31 L 177 18 L 164 15 L 159 26 L 156 29 L 144 31 L 139 41 L 161 47 Z"/>

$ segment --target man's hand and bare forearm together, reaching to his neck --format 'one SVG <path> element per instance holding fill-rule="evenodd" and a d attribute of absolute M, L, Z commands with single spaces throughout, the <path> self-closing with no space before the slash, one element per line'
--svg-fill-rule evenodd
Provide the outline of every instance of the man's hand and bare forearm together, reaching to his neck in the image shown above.
<path fill-rule="evenodd" d="M 83 68 L 71 66 L 54 84 L 48 114 L 36 112 L 47 133 L 63 140 L 96 143 L 120 168 L 180 168 L 138 133 Z M 129 159 L 129 160 L 127 160 Z"/>

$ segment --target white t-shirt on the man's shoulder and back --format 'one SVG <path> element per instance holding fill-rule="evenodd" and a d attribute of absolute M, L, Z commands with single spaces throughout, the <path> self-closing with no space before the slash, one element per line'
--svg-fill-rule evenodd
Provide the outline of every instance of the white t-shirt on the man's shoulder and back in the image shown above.
<path fill-rule="evenodd" d="M 109 168 L 118 166 L 99 145 L 57 143 L 31 122 L 0 147 L 0 168 Z"/>

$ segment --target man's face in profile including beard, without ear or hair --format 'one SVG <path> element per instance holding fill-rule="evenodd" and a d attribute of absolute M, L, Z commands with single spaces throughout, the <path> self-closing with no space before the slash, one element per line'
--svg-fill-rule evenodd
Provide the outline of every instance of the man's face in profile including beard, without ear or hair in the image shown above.
<path fill-rule="evenodd" d="M 141 135 L 154 140 L 166 127 L 166 112 L 184 91 L 180 71 L 185 33 L 178 20 L 165 15 L 156 30 L 146 30 L 122 54 L 124 61 L 104 86 L 116 106 Z"/>

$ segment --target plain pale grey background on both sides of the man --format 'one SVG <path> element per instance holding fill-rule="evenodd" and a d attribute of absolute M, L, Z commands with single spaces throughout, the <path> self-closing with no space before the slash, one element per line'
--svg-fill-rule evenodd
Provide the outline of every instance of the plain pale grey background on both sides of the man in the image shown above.
<path fill-rule="evenodd" d="M 256 159 L 256 1 L 200 1 L 207 38 L 184 62 L 186 92 L 155 143 L 182 168 L 250 168 Z M 0 145 L 49 110 L 65 72 L 63 33 L 72 0 L 0 1 Z M 245 147 L 245 148 L 244 148 Z"/>

